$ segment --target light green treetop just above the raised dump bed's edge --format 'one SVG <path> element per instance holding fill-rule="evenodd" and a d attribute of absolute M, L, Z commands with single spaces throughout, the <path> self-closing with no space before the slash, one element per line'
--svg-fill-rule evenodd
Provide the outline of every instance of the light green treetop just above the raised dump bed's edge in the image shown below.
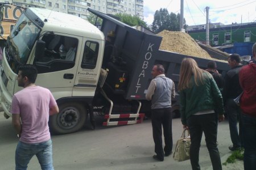
<path fill-rule="evenodd" d="M 144 22 L 141 18 L 139 18 L 138 16 L 132 16 L 130 14 L 115 14 L 115 16 L 117 16 L 119 18 L 119 20 L 127 25 L 130 26 L 142 26 L 145 28 L 147 27 L 147 23 Z"/>

